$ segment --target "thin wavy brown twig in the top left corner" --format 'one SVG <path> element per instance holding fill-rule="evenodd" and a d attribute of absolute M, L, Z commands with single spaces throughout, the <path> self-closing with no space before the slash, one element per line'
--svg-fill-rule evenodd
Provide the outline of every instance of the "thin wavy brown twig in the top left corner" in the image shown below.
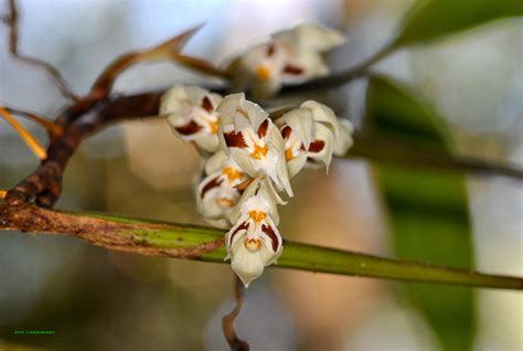
<path fill-rule="evenodd" d="M 35 59 L 31 56 L 26 56 L 22 53 L 19 52 L 18 50 L 18 20 L 19 20 L 19 11 L 17 7 L 17 1 L 15 0 L 9 0 L 9 17 L 6 18 L 4 22 L 8 24 L 9 28 L 9 51 L 11 54 L 19 61 L 26 63 L 29 65 L 38 66 L 42 70 L 44 70 L 51 78 L 53 78 L 54 83 L 56 84 L 56 87 L 58 88 L 60 93 L 68 98 L 72 99 L 73 102 L 78 102 L 79 97 L 76 96 L 67 82 L 64 79 L 62 74 L 56 70 L 53 65 Z"/>

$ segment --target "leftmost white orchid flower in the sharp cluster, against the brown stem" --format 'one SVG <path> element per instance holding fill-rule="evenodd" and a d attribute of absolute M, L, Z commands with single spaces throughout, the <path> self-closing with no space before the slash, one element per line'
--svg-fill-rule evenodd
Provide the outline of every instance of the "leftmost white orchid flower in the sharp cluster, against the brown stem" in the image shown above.
<path fill-rule="evenodd" d="M 177 85 L 162 96 L 160 115 L 168 116 L 167 121 L 178 137 L 214 152 L 218 149 L 215 109 L 221 102 L 222 96 L 198 86 Z"/>

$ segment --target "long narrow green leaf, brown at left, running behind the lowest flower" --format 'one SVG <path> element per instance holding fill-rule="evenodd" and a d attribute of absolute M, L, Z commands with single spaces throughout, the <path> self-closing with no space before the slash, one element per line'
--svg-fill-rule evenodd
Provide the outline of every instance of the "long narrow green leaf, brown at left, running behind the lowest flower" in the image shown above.
<path fill-rule="evenodd" d="M 55 212 L 38 209 L 28 210 L 28 214 L 18 212 L 14 219 L 20 220 L 22 215 L 26 215 L 23 217 L 24 231 L 66 234 L 86 240 L 95 245 L 147 255 L 175 256 L 177 253 L 180 254 L 181 251 L 186 248 L 216 243 L 216 240 L 224 235 L 223 231 L 204 226 L 136 220 L 97 213 Z M 42 222 L 43 217 L 49 221 Z M 33 220 L 35 220 L 34 223 Z M 38 226 L 42 223 L 46 223 L 45 227 L 39 228 Z M 2 219 L 0 215 L 0 231 L 14 227 L 11 220 Z M 483 288 L 523 289 L 523 278 L 520 277 L 481 274 L 415 262 L 381 258 L 290 241 L 286 241 L 284 246 L 284 254 L 275 267 Z M 225 248 L 218 245 L 217 247 L 213 246 L 211 251 L 185 256 L 185 258 L 225 263 Z"/>

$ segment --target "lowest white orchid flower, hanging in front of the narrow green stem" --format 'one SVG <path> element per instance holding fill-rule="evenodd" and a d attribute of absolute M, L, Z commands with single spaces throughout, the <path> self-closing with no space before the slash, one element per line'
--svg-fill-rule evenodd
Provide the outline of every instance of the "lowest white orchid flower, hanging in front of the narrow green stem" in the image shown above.
<path fill-rule="evenodd" d="M 270 181 L 255 180 L 242 196 L 239 211 L 232 216 L 235 225 L 225 237 L 233 270 L 245 287 L 276 263 L 284 249 L 278 232 L 278 214 Z"/>

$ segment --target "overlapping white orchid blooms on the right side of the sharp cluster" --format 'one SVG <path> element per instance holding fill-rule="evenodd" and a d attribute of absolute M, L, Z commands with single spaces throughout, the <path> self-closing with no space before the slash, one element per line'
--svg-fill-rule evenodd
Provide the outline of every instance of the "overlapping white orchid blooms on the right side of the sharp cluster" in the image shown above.
<path fill-rule="evenodd" d="M 329 107 L 308 100 L 281 116 L 276 124 L 285 141 L 289 176 L 309 163 L 322 162 L 327 169 L 332 153 L 344 155 L 352 146 L 352 125 L 340 121 Z"/>

